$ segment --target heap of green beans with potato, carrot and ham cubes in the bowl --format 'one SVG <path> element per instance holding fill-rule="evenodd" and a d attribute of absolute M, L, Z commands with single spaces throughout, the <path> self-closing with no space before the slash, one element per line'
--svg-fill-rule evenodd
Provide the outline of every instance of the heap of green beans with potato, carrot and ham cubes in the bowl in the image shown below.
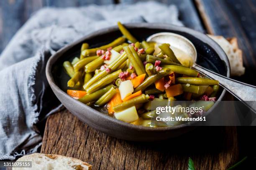
<path fill-rule="evenodd" d="M 118 28 L 123 36 L 100 47 L 92 48 L 84 42 L 77 56 L 63 62 L 64 71 L 70 77 L 67 93 L 71 97 L 79 96 L 78 101 L 102 112 L 108 110 L 110 116 L 123 121 L 133 112 L 133 117 L 139 119 L 131 123 L 147 127 L 166 126 L 166 122 L 154 125 L 151 121 L 156 118 L 158 106 L 173 107 L 172 101 L 182 99 L 204 100 L 205 95 L 212 97 L 211 100 L 218 97 L 219 82 L 182 65 L 170 44 L 138 41 L 125 25 L 118 22 Z M 158 49 L 156 54 L 157 46 L 161 51 Z M 112 53 L 115 60 L 111 60 Z M 151 105 L 152 100 L 158 102 L 156 107 Z"/>

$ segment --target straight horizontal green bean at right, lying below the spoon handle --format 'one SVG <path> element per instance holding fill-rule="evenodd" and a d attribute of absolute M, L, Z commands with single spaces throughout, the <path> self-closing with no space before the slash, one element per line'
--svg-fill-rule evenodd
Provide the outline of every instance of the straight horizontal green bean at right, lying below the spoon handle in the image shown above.
<path fill-rule="evenodd" d="M 205 78 L 195 77 L 178 77 L 175 79 L 176 83 L 191 84 L 191 85 L 219 85 L 218 80 L 210 80 Z"/>

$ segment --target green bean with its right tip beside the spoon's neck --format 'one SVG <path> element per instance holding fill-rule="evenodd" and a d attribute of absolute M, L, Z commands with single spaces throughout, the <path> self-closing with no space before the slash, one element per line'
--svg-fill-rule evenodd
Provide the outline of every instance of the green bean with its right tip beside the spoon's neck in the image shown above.
<path fill-rule="evenodd" d="M 189 77 L 197 77 L 198 72 L 196 70 L 193 70 L 191 68 L 182 67 L 178 65 L 163 65 L 163 68 L 169 68 L 173 72 L 176 72 L 178 74 L 187 75 Z"/>

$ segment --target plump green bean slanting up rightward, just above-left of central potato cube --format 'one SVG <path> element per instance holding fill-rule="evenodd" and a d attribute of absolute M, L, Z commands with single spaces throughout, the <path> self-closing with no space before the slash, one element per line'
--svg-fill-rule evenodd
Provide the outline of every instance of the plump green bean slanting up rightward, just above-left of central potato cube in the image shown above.
<path fill-rule="evenodd" d="M 106 75 L 105 77 L 103 77 L 102 79 L 100 79 L 99 81 L 97 81 L 93 85 L 91 85 L 89 88 L 87 88 L 86 92 L 90 94 L 96 90 L 99 90 L 100 88 L 104 87 L 105 85 L 109 84 L 110 82 L 113 82 L 115 79 L 118 78 L 120 72 L 122 72 L 122 70 L 117 70 L 117 71 L 111 73 L 110 75 Z"/>

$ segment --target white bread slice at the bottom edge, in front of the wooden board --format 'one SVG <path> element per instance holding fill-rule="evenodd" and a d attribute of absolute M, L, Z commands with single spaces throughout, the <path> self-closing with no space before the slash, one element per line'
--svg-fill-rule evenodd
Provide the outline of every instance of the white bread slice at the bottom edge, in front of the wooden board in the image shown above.
<path fill-rule="evenodd" d="M 55 154 L 33 153 L 17 161 L 32 161 L 32 168 L 13 168 L 13 170 L 92 170 L 92 165 L 82 160 Z"/>

